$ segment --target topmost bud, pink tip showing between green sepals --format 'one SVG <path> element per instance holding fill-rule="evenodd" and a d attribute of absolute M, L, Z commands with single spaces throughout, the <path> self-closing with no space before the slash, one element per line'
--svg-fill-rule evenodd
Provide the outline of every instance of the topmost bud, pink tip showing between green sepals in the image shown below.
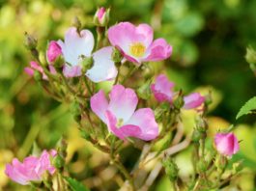
<path fill-rule="evenodd" d="M 101 7 L 98 9 L 94 16 L 94 23 L 97 26 L 107 26 L 109 21 L 109 13 L 110 9 L 105 10 L 105 8 Z"/>

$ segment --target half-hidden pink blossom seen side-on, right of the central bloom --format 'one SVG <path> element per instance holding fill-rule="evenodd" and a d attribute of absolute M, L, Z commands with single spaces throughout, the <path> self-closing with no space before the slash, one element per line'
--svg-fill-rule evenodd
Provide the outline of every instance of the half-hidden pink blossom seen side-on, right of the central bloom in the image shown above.
<path fill-rule="evenodd" d="M 174 85 L 164 74 L 160 74 L 156 77 L 156 83 L 151 85 L 151 90 L 159 102 L 168 101 L 172 103 L 176 95 L 173 91 Z M 205 97 L 199 93 L 192 93 L 186 95 L 184 101 L 185 109 L 193 109 L 199 107 L 205 101 Z"/>

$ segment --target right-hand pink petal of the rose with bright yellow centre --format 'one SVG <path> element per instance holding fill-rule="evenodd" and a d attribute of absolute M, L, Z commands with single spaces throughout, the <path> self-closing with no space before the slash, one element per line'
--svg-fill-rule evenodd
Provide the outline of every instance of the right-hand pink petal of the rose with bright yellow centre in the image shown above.
<path fill-rule="evenodd" d="M 172 46 L 164 39 L 157 39 L 156 41 L 153 41 L 147 52 L 149 56 L 143 59 L 143 61 L 162 61 L 171 56 Z"/>

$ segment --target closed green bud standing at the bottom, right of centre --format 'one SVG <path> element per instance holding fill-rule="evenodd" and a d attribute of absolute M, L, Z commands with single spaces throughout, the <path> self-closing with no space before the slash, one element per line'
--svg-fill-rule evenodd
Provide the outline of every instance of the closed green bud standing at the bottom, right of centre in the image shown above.
<path fill-rule="evenodd" d="M 174 160 L 172 158 L 166 158 L 162 161 L 162 166 L 170 181 L 175 181 L 178 177 L 179 169 Z"/>

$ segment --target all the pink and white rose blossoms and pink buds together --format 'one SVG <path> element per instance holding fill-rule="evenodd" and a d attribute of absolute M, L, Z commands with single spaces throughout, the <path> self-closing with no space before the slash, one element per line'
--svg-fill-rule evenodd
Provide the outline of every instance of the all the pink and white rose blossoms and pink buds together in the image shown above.
<path fill-rule="evenodd" d="M 100 29 L 104 29 L 108 17 L 109 10 L 98 10 L 95 22 Z M 154 41 L 154 31 L 148 24 L 135 26 L 129 22 L 120 22 L 105 32 L 110 45 L 95 50 L 93 34 L 73 26 L 67 30 L 64 41 L 48 43 L 46 67 L 36 60 L 30 62 L 25 72 L 40 75 L 45 81 L 58 73 L 68 80 L 81 76 L 86 76 L 93 83 L 115 80 L 108 98 L 102 90 L 91 95 L 91 110 L 105 123 L 108 131 L 121 140 L 125 141 L 128 137 L 147 142 L 155 140 L 160 133 L 155 112 L 152 108 L 136 110 L 139 98 L 133 89 L 119 84 L 119 68 L 126 62 L 138 68 L 145 62 L 168 59 L 172 54 L 172 46 L 164 39 Z M 174 91 L 174 86 L 166 75 L 159 74 L 149 88 L 158 103 L 172 106 L 180 96 L 180 92 Z M 204 108 L 205 96 L 192 93 L 182 97 L 180 108 L 196 109 L 198 112 Z M 232 132 L 218 132 L 214 137 L 214 148 L 219 154 L 231 157 L 239 150 L 239 141 Z M 57 155 L 57 150 L 43 150 L 41 156 L 28 156 L 22 163 L 14 158 L 12 164 L 6 166 L 6 175 L 23 185 L 43 181 L 45 174 L 53 176 L 56 172 L 52 160 Z"/>

